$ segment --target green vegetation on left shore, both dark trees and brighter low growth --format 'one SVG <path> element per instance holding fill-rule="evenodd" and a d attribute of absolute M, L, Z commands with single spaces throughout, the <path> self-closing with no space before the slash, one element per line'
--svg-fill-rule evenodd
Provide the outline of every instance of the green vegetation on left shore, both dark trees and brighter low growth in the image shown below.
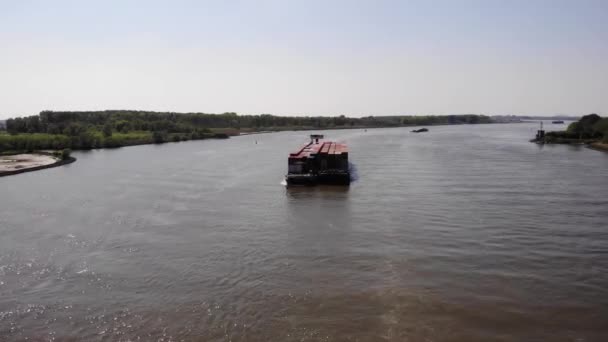
<path fill-rule="evenodd" d="M 485 115 L 285 117 L 269 114 L 172 113 L 131 110 L 60 112 L 6 120 L 0 153 L 84 150 L 172 141 L 228 138 L 260 131 L 491 123 Z"/>

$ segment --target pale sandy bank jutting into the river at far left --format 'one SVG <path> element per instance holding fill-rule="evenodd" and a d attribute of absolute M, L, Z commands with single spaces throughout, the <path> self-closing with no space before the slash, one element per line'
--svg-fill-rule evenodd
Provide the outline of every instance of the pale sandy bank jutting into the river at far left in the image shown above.
<path fill-rule="evenodd" d="M 0 177 L 17 175 L 62 166 L 76 161 L 76 158 L 56 158 L 50 154 L 27 153 L 0 156 Z"/>

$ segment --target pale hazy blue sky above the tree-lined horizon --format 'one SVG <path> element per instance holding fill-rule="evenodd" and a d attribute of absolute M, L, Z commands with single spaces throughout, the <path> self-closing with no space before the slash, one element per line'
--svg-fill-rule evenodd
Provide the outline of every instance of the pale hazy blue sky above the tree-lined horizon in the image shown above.
<path fill-rule="evenodd" d="M 0 0 L 0 119 L 42 110 L 608 114 L 604 0 Z"/>

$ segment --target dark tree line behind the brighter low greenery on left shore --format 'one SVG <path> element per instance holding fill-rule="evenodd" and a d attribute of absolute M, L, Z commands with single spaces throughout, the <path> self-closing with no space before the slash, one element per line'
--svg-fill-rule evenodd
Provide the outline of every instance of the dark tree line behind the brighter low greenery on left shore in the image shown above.
<path fill-rule="evenodd" d="M 323 116 L 275 116 L 237 115 L 236 113 L 162 113 L 131 110 L 106 110 L 84 112 L 43 111 L 39 115 L 8 119 L 9 133 L 48 133 L 74 135 L 76 132 L 97 130 L 128 133 L 132 131 L 167 131 L 187 133 L 209 128 L 271 129 L 271 128 L 340 128 L 340 127 L 397 127 L 438 124 L 489 123 L 485 115 L 426 115 L 426 116 L 367 116 L 349 118 L 344 115 Z"/>

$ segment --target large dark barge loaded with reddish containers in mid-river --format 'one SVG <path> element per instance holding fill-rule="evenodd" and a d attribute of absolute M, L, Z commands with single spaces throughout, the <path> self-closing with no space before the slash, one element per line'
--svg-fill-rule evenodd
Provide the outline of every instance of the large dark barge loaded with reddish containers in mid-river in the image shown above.
<path fill-rule="evenodd" d="M 287 185 L 350 184 L 348 148 L 332 141 L 320 141 L 313 134 L 310 143 L 290 153 L 287 161 Z"/>

